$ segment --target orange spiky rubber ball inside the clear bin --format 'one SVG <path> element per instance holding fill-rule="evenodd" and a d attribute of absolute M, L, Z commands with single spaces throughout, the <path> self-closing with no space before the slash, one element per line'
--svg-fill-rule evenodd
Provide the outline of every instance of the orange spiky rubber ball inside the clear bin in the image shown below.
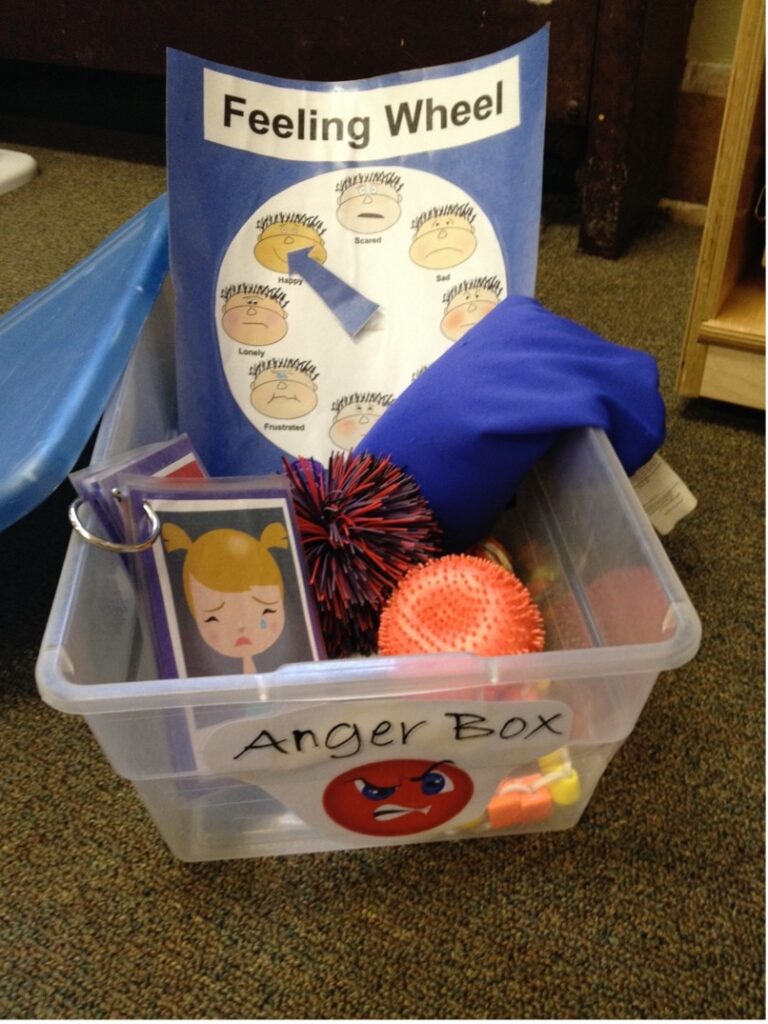
<path fill-rule="evenodd" d="M 495 656 L 544 647 L 544 623 L 514 573 L 475 555 L 444 555 L 411 569 L 379 625 L 380 654 L 470 651 Z"/>

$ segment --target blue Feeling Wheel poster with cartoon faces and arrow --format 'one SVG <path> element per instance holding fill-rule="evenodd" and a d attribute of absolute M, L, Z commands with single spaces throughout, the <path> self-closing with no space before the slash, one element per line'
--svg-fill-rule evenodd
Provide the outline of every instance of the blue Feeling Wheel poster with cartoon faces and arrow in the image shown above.
<path fill-rule="evenodd" d="M 169 51 L 179 426 L 209 472 L 351 451 L 532 295 L 547 44 L 342 83 Z"/>

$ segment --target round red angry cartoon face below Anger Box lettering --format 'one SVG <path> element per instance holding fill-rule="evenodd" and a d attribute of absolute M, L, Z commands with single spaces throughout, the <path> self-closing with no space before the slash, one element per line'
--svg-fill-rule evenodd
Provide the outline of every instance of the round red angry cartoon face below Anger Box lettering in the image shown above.
<path fill-rule="evenodd" d="M 453 761 L 379 761 L 329 782 L 323 806 L 350 831 L 412 836 L 450 821 L 473 793 L 472 779 Z"/>

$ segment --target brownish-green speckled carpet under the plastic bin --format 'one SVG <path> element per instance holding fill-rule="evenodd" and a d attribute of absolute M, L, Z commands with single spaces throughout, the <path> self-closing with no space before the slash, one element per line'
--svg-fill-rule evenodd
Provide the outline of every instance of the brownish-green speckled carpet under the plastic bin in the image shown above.
<path fill-rule="evenodd" d="M 2 310 L 165 187 L 154 142 L 13 138 L 41 174 L 0 197 Z M 4 1018 L 763 1019 L 764 420 L 674 393 L 699 240 L 659 222 L 605 262 L 573 223 L 542 231 L 543 302 L 658 359 L 664 454 L 699 502 L 665 546 L 700 652 L 569 831 L 174 860 L 37 695 L 69 485 L 0 535 Z"/>

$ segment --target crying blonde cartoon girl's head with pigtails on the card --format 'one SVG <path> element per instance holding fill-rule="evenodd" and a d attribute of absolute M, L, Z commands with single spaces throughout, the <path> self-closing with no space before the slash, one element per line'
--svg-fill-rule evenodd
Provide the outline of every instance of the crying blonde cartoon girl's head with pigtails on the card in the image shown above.
<path fill-rule="evenodd" d="M 284 584 L 271 548 L 287 548 L 282 523 L 257 540 L 238 529 L 212 529 L 196 541 L 174 523 L 163 526 L 169 552 L 184 551 L 187 607 L 201 637 L 218 654 L 240 658 L 255 672 L 254 657 L 268 650 L 286 625 Z"/>

